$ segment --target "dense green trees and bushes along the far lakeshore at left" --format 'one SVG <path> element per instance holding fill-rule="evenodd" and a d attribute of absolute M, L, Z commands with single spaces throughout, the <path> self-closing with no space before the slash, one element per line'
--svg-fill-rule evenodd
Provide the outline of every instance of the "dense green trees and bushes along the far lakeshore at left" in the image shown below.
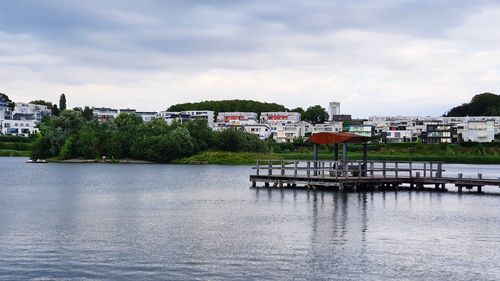
<path fill-rule="evenodd" d="M 132 158 L 169 162 L 205 150 L 267 152 L 256 135 L 227 130 L 213 132 L 206 120 L 167 124 L 163 119 L 144 123 L 135 114 L 120 114 L 107 122 L 86 119 L 82 111 L 65 110 L 40 124 L 33 143 L 33 159 Z"/>

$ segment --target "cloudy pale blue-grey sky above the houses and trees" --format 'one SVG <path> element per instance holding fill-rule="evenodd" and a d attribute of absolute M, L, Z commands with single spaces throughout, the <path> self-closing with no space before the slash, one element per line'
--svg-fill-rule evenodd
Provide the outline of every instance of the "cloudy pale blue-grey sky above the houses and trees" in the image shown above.
<path fill-rule="evenodd" d="M 251 99 L 438 116 L 499 93 L 500 2 L 3 0 L 0 92 L 161 111 Z"/>

